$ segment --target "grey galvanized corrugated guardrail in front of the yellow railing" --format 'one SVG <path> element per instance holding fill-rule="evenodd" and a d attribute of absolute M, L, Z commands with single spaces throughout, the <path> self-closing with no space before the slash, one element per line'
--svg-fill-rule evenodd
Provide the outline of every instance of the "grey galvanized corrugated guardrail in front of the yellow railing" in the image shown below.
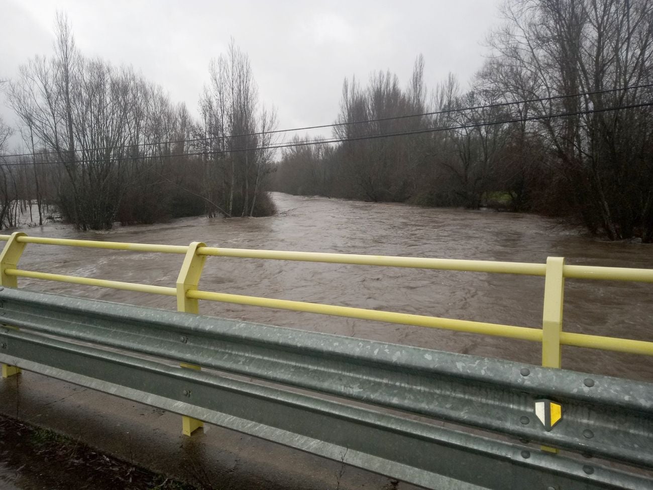
<path fill-rule="evenodd" d="M 3 363 L 426 488 L 653 485 L 636 471 L 588 459 L 653 468 L 651 384 L 9 287 L 0 290 L 0 316 L 12 325 L 0 327 Z M 551 414 L 539 420 L 543 399 L 562 406 L 558 423 Z M 431 419 L 585 458 L 436 427 Z"/>

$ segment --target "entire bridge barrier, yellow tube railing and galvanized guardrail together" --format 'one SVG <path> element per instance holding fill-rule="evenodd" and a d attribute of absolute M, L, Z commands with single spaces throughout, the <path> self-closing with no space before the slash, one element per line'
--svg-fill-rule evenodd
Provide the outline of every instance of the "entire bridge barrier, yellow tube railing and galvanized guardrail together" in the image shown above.
<path fill-rule="evenodd" d="M 552 369 L 560 367 L 561 345 L 653 354 L 653 342 L 562 331 L 565 278 L 653 282 L 653 270 L 572 266 L 558 257 L 533 264 L 238 250 L 200 242 L 93 242 L 24 233 L 0 240 L 7 240 L 0 254 L 1 321 L 11 327 L 0 329 L 5 377 L 24 367 L 182 414 L 186 434 L 209 421 L 338 461 L 345 454 L 346 463 L 430 488 L 651 484 L 595 463 L 199 369 L 246 374 L 653 468 L 653 385 Z M 151 286 L 18 269 L 29 243 L 185 258 L 176 287 Z M 545 276 L 543 328 L 200 291 L 210 255 Z M 19 277 L 176 296 L 182 313 L 14 289 Z M 543 344 L 544 367 L 202 317 L 199 299 L 532 340 Z M 95 345 L 82 346 L 80 340 Z M 186 369 L 129 355 L 134 352 L 171 359 Z"/>

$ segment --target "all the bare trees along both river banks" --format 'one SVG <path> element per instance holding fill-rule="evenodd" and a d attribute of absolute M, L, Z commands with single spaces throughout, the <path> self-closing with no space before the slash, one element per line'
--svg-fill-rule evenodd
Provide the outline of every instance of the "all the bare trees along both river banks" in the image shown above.
<path fill-rule="evenodd" d="M 331 138 L 295 137 L 276 161 L 276 111 L 233 41 L 193 118 L 131 67 L 80 53 L 59 14 L 52 56 L 4 84 L 20 124 L 0 122 L 0 225 L 27 210 L 79 229 L 266 216 L 273 188 L 539 212 L 653 242 L 653 3 L 507 0 L 502 15 L 468 87 L 450 74 L 428 88 L 422 56 L 405 86 L 345 78 Z M 12 131 L 19 161 L 2 157 Z"/>

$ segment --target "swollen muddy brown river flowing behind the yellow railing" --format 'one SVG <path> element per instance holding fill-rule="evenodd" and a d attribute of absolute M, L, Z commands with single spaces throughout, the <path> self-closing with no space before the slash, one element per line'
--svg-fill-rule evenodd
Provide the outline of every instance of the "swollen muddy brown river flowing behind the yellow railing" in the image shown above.
<path fill-rule="evenodd" d="M 186 218 L 118 227 L 106 233 L 66 225 L 29 235 L 157 244 L 406 255 L 495 261 L 653 268 L 653 247 L 603 242 L 528 214 L 419 208 L 274 194 L 279 214 L 231 220 Z M 174 286 L 182 255 L 30 244 L 20 268 Z M 72 284 L 19 280 L 21 287 L 107 301 L 175 308 L 160 297 Z M 544 278 L 209 257 L 200 287 L 261 297 L 540 327 Z M 539 344 L 437 329 L 333 318 L 234 304 L 201 302 L 204 314 L 437 350 L 539 363 Z M 653 284 L 568 280 L 564 329 L 653 340 Z M 653 359 L 564 348 L 563 367 L 653 382 Z"/>

